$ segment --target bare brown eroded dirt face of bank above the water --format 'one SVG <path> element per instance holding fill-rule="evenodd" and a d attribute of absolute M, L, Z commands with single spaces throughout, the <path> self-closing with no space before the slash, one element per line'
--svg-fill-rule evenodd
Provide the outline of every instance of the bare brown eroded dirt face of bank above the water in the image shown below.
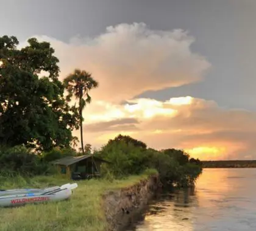
<path fill-rule="evenodd" d="M 160 188 L 158 175 L 149 176 L 131 187 L 108 191 L 103 196 L 105 216 L 111 231 L 123 230 L 148 204 Z"/>

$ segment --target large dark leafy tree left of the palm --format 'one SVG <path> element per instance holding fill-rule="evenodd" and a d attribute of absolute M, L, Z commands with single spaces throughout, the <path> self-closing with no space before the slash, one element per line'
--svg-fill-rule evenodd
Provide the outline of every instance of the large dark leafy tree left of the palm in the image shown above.
<path fill-rule="evenodd" d="M 65 100 L 59 60 L 49 43 L 28 43 L 17 49 L 15 36 L 0 37 L 0 145 L 69 147 L 79 115 Z"/>

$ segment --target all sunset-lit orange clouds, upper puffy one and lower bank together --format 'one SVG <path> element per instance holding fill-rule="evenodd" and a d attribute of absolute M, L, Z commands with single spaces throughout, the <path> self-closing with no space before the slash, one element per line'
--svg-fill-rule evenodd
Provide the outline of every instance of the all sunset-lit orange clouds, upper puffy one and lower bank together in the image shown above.
<path fill-rule="evenodd" d="M 194 38 L 187 32 L 158 32 L 134 23 L 107 27 L 99 36 L 69 43 L 37 38 L 54 47 L 61 78 L 74 67 L 86 67 L 99 81 L 99 88 L 91 92 L 92 103 L 84 109 L 85 143 L 99 148 L 118 134 L 129 134 L 148 147 L 180 148 L 202 160 L 254 155 L 254 112 L 222 108 L 193 95 L 166 94 L 165 100 L 140 96 L 207 77 L 212 64 L 191 51 Z M 74 135 L 79 137 L 79 131 Z"/>

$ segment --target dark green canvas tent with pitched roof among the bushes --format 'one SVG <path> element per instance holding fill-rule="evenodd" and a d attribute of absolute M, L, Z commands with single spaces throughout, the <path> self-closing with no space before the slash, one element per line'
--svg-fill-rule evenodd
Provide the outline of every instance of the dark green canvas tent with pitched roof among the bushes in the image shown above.
<path fill-rule="evenodd" d="M 51 164 L 56 165 L 59 173 L 66 174 L 68 178 L 75 178 L 79 175 L 80 178 L 87 179 L 91 176 L 100 176 L 101 164 L 104 162 L 108 163 L 98 157 L 84 155 L 63 157 L 52 161 Z"/>

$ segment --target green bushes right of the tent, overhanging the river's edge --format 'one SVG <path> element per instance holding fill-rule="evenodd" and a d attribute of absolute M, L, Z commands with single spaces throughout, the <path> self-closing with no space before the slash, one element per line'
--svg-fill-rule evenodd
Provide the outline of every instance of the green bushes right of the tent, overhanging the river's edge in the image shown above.
<path fill-rule="evenodd" d="M 132 137 L 126 136 L 123 139 L 121 135 L 110 140 L 95 154 L 111 162 L 103 166 L 102 173 L 107 175 L 107 178 L 122 178 L 154 168 L 163 182 L 187 186 L 193 184 L 202 172 L 200 160 L 195 162 L 182 150 L 172 148 L 157 151 L 152 148 L 146 149 L 137 143 L 139 141 L 135 143 Z"/>

